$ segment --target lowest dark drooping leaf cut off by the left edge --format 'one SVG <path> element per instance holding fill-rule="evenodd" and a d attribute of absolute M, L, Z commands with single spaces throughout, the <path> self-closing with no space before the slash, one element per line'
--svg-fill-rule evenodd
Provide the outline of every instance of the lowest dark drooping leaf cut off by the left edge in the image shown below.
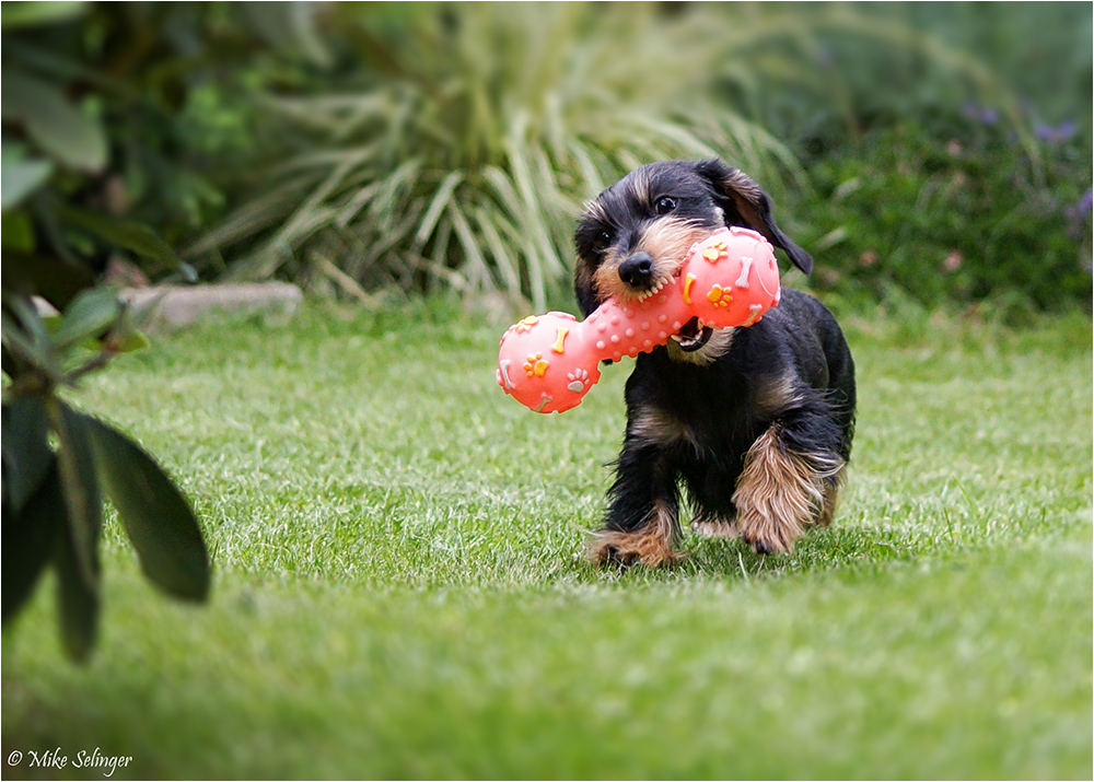
<path fill-rule="evenodd" d="M 34 593 L 53 552 L 57 530 L 63 526 L 65 500 L 57 465 L 50 458 L 45 479 L 22 512 L 4 513 L 2 603 L 5 625 Z"/>

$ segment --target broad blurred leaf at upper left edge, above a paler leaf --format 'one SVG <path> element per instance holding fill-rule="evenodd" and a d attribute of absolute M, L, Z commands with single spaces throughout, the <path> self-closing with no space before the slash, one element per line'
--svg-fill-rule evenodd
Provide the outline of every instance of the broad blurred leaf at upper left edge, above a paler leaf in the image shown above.
<path fill-rule="evenodd" d="M 106 165 L 106 133 L 102 126 L 70 104 L 60 87 L 4 67 L 0 113 L 5 120 L 22 121 L 30 138 L 56 161 L 82 171 Z"/>

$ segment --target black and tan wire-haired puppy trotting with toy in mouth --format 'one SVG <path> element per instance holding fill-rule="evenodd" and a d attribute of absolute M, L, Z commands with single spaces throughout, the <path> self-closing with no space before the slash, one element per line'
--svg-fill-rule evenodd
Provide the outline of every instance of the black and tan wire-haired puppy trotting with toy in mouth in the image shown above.
<path fill-rule="evenodd" d="M 605 299 L 637 301 L 678 273 L 693 243 L 723 225 L 764 234 L 804 272 L 813 259 L 778 229 L 771 201 L 720 160 L 654 163 L 586 205 L 574 234 L 574 291 L 587 316 Z M 594 562 L 655 567 L 679 557 L 680 485 L 691 527 L 785 553 L 828 525 L 851 454 L 854 363 L 835 318 L 784 290 L 748 328 L 693 318 L 638 357 L 627 432 Z"/>

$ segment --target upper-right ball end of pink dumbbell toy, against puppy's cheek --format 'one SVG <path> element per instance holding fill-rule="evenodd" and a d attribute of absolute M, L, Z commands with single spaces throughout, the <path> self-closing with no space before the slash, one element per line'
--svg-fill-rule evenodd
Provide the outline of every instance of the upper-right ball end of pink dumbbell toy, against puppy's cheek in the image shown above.
<path fill-rule="evenodd" d="M 752 326 L 779 304 L 775 248 L 755 231 L 715 231 L 691 247 L 685 264 L 684 297 L 710 326 Z"/>

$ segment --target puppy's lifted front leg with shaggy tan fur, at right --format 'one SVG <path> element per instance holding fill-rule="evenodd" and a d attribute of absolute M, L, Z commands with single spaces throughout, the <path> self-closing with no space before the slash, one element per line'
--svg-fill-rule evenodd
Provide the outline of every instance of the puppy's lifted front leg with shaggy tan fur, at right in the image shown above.
<path fill-rule="evenodd" d="M 843 476 L 840 432 L 807 407 L 773 422 L 745 455 L 733 504 L 758 553 L 788 553 L 805 528 L 827 524 Z"/>

